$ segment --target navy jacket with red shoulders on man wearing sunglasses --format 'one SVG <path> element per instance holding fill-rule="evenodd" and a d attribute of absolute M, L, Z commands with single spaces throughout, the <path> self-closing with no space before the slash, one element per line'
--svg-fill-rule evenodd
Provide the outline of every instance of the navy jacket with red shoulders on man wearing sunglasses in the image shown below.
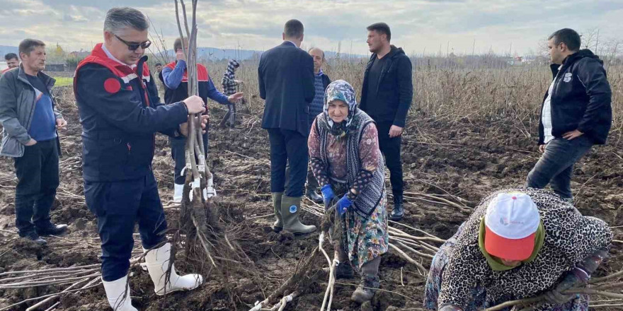
<path fill-rule="evenodd" d="M 142 57 L 130 68 L 110 59 L 102 44 L 80 62 L 74 93 L 82 124 L 84 180 L 144 177 L 152 170 L 156 132 L 176 135 L 188 119 L 183 102 L 163 105 Z"/>

